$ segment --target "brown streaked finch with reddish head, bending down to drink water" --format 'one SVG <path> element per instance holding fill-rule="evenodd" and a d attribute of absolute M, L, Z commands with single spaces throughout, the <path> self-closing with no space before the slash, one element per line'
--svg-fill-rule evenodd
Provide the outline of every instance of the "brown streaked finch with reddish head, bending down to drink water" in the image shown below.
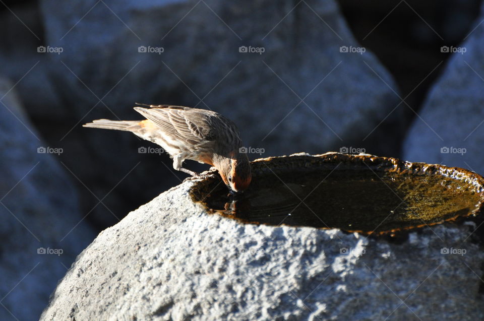
<path fill-rule="evenodd" d="M 134 109 L 146 119 L 96 119 L 83 127 L 132 132 L 161 146 L 173 159 L 175 170 L 195 177 L 200 174 L 182 167 L 184 160 L 214 166 L 231 194 L 239 194 L 249 187 L 252 180 L 251 165 L 233 121 L 206 109 L 141 103 L 136 105 Z"/>

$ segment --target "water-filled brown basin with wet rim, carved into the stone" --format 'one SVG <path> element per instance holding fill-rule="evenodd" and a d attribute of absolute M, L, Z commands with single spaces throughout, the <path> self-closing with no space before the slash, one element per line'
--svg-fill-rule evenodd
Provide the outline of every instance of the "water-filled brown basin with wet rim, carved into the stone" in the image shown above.
<path fill-rule="evenodd" d="M 212 175 L 192 198 L 245 223 L 392 234 L 475 216 L 484 197 L 484 178 L 471 171 L 367 154 L 264 158 L 252 171 L 240 197 Z"/>

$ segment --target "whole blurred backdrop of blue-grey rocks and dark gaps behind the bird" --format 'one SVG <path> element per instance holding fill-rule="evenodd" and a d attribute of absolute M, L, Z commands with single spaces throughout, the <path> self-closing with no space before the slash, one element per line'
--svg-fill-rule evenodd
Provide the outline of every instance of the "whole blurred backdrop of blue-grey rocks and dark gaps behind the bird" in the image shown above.
<path fill-rule="evenodd" d="M 140 153 L 156 147 L 149 142 L 81 126 L 97 118 L 140 119 L 135 102 L 221 112 L 238 124 L 246 147 L 264 149 L 251 159 L 365 151 L 483 174 L 480 5 L 1 1 L 0 146 L 2 155 L 17 155 L 4 156 L 0 166 L 2 236 L 9 244 L 13 235 L 47 233 L 61 245 L 41 237 L 32 244 L 72 248 L 68 268 L 96 232 L 186 177 L 167 155 Z M 26 182 L 35 192 L 21 188 Z M 40 201 L 32 209 L 24 204 Z M 54 221 L 64 223 L 52 228 Z M 70 229 L 79 241 L 61 242 Z M 23 269 L 4 273 L 0 318 L 32 319 L 15 298 L 29 291 L 33 282 L 22 280 L 37 261 L 15 260 Z M 36 296 L 32 315 L 40 314 L 55 281 L 46 284 L 51 288 Z"/>

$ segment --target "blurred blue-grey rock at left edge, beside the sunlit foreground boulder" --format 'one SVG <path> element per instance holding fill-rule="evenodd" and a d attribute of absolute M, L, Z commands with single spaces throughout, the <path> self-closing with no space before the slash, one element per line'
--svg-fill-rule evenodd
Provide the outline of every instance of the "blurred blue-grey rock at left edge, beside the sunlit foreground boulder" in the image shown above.
<path fill-rule="evenodd" d="M 76 190 L 56 155 L 37 152 L 48 146 L 13 85 L 0 79 L 0 319 L 27 321 L 95 235 L 80 222 Z"/>

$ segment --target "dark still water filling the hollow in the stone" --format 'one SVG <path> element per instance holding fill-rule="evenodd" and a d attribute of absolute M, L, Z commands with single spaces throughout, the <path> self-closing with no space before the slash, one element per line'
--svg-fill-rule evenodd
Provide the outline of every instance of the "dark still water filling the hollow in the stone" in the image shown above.
<path fill-rule="evenodd" d="M 314 169 L 254 177 L 235 199 L 223 184 L 204 200 L 216 213 L 269 225 L 385 232 L 469 215 L 475 186 L 441 175 Z M 380 176 L 380 177 L 379 177 Z"/>

